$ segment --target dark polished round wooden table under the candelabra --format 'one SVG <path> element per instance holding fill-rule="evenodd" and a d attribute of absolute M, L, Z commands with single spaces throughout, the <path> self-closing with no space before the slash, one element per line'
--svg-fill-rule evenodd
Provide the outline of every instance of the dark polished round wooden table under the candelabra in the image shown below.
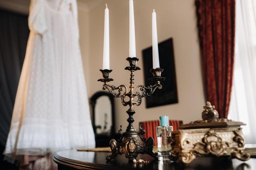
<path fill-rule="evenodd" d="M 54 156 L 58 170 L 256 170 L 256 158 L 246 162 L 227 157 L 201 157 L 195 159 L 189 166 L 171 161 L 158 161 L 146 154 L 139 154 L 138 158 L 150 161 L 146 165 L 128 162 L 123 155 L 115 160 L 107 161 L 106 152 L 78 152 L 76 150 L 59 151 Z"/>

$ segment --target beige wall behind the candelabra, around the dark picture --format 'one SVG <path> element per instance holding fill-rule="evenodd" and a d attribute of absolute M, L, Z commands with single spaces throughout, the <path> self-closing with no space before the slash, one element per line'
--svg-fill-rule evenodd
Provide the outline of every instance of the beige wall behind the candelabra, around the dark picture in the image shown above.
<path fill-rule="evenodd" d="M 129 72 L 124 70 L 128 65 L 125 58 L 129 55 L 129 4 L 128 0 L 106 0 L 110 16 L 110 68 L 113 69 L 111 78 L 113 85 L 129 84 Z M 102 83 L 99 69 L 102 68 L 104 8 L 102 3 L 89 12 L 89 33 L 87 46 L 81 43 L 87 80 L 88 94 L 91 96 L 101 90 Z M 171 119 L 181 119 L 185 123 L 200 119 L 202 106 L 205 103 L 202 76 L 200 68 L 199 45 L 197 38 L 196 9 L 194 0 L 135 0 L 135 29 L 136 49 L 140 59 L 138 66 L 142 68 L 141 51 L 152 45 L 151 15 L 153 8 L 157 12 L 158 41 L 167 38 L 174 39 L 175 64 L 177 74 L 178 103 L 146 109 L 145 101 L 135 107 L 134 125 L 138 129 L 138 122 L 142 120 L 158 119 L 167 115 Z M 80 15 L 80 14 L 79 14 Z M 80 18 L 81 19 L 81 18 Z M 84 19 L 84 18 L 82 18 Z M 87 28 L 80 24 L 82 30 Z M 81 42 L 83 42 L 81 40 Z M 86 50 L 85 49 L 85 50 Z M 88 53 L 89 52 L 89 53 Z M 89 56 L 89 57 L 88 57 Z M 89 64 L 87 63 L 89 62 Z M 143 71 L 136 71 L 136 85 L 143 84 Z M 116 99 L 116 129 L 119 125 L 127 126 L 128 107 L 121 105 Z"/>

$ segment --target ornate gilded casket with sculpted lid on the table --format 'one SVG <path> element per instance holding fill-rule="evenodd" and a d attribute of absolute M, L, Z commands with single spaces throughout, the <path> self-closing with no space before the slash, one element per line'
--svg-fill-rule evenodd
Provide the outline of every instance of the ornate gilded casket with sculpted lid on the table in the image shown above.
<path fill-rule="evenodd" d="M 250 158 L 244 153 L 245 139 L 242 122 L 218 119 L 215 106 L 207 102 L 203 107 L 202 120 L 181 125 L 172 132 L 172 160 L 191 163 L 198 156 L 230 156 L 242 161 Z"/>

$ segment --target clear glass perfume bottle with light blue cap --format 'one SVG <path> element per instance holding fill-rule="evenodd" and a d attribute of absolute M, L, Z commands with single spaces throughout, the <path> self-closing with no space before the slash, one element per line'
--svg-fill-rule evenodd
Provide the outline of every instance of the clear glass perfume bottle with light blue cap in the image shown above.
<path fill-rule="evenodd" d="M 169 155 L 171 154 L 171 132 L 173 126 L 169 126 L 169 117 L 161 116 L 160 126 L 157 126 L 157 137 L 158 137 L 158 160 L 165 161 L 170 160 Z"/>

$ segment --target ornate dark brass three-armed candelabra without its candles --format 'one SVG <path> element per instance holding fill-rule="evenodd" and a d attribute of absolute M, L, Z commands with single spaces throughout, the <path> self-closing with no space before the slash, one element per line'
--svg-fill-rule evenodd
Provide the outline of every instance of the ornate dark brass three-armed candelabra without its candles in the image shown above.
<path fill-rule="evenodd" d="M 140 131 L 137 132 L 136 129 L 133 126 L 134 118 L 133 115 L 136 113 L 134 110 L 134 105 L 139 106 L 142 102 L 143 97 L 149 97 L 151 96 L 157 88 L 161 89 L 162 85 L 160 84 L 161 81 L 164 81 L 165 78 L 161 77 L 161 73 L 163 71 L 162 68 L 155 68 L 151 69 L 150 71 L 153 74 L 153 78 L 150 78 L 152 82 L 154 82 L 154 85 L 150 85 L 148 87 L 144 85 L 138 85 L 136 87 L 134 86 L 134 72 L 136 70 L 140 70 L 140 68 L 137 65 L 138 58 L 137 57 L 128 57 L 126 60 L 129 62 L 130 66 L 126 67 L 126 70 L 129 70 L 131 72 L 130 74 L 130 91 L 128 92 L 128 89 L 125 85 L 109 85 L 109 82 L 113 81 L 112 78 L 109 78 L 109 74 L 112 70 L 109 69 L 100 69 L 102 72 L 103 79 L 99 79 L 98 81 L 104 82 L 104 85 L 102 85 L 102 89 L 108 89 L 108 91 L 116 98 L 121 98 L 121 102 L 123 106 L 129 105 L 129 109 L 126 111 L 126 113 L 129 115 L 128 126 L 126 128 L 126 131 L 122 134 L 122 127 L 118 131 L 118 134 L 120 135 L 119 140 L 111 139 L 109 142 L 112 154 L 108 155 L 106 157 L 107 160 L 111 160 L 116 157 L 118 154 L 125 154 L 125 157 L 127 157 L 129 160 L 132 160 L 138 156 L 138 153 L 147 153 L 153 157 L 157 157 L 157 154 L 153 152 L 153 146 L 154 146 L 154 139 L 152 137 L 149 137 L 147 140 L 143 138 L 143 134 L 145 133 L 145 130 L 142 129 L 141 126 L 139 126 Z M 129 100 L 126 100 L 125 98 L 128 97 Z M 135 98 L 138 98 L 135 100 Z"/>

